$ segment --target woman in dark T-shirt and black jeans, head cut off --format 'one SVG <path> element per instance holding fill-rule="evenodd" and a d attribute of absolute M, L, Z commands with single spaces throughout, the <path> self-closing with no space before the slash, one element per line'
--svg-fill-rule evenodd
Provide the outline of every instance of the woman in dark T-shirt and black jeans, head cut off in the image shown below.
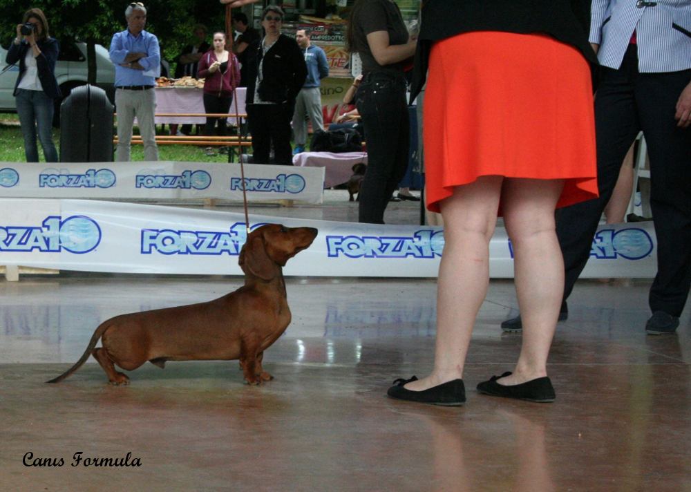
<path fill-rule="evenodd" d="M 384 224 L 384 210 L 408 167 L 410 123 L 404 62 L 415 53 L 398 6 L 357 0 L 350 13 L 348 48 L 359 53 L 363 79 L 356 106 L 367 133 L 367 171 L 359 194 L 359 221 Z"/>

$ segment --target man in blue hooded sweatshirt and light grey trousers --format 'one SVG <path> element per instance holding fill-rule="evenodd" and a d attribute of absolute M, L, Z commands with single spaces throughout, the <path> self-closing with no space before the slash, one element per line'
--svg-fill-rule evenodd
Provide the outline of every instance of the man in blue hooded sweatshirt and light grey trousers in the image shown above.
<path fill-rule="evenodd" d="M 321 113 L 321 79 L 329 76 L 329 64 L 326 61 L 326 53 L 319 46 L 310 43 L 310 32 L 299 29 L 295 34 L 295 41 L 303 50 L 305 64 L 307 64 L 307 79 L 295 100 L 293 113 L 293 133 L 295 137 L 295 150 L 293 154 L 305 151 L 307 142 L 307 120 L 312 122 L 312 130 L 323 130 L 324 120 Z"/>

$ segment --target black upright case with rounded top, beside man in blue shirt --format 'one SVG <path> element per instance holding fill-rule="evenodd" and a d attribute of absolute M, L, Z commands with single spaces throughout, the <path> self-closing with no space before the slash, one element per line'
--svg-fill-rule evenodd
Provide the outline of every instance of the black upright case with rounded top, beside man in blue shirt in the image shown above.
<path fill-rule="evenodd" d="M 113 104 L 102 88 L 73 88 L 60 106 L 60 121 L 60 162 L 113 160 Z"/>

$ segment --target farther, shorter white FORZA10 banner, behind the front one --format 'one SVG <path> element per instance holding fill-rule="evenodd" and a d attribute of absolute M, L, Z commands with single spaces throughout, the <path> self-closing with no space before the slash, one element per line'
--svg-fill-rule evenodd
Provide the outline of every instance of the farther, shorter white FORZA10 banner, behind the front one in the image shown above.
<path fill-rule="evenodd" d="M 247 200 L 323 202 L 324 168 L 245 164 Z M 243 200 L 240 164 L 0 162 L 3 198 L 220 198 Z"/>

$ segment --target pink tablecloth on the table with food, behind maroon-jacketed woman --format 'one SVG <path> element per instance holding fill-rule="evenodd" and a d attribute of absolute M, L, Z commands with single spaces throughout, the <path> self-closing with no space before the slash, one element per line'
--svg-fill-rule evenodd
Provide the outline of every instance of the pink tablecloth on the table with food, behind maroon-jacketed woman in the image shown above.
<path fill-rule="evenodd" d="M 187 87 L 157 87 L 156 91 L 156 114 L 160 113 L 204 113 L 204 101 L 202 100 L 203 90 Z M 238 113 L 246 114 L 245 111 L 245 92 L 247 88 L 238 87 L 236 95 L 238 97 Z M 230 106 L 230 113 L 235 114 L 235 102 Z M 235 117 L 228 118 L 229 122 Z M 156 116 L 156 124 L 178 123 L 204 124 L 206 118 L 199 116 Z"/>

